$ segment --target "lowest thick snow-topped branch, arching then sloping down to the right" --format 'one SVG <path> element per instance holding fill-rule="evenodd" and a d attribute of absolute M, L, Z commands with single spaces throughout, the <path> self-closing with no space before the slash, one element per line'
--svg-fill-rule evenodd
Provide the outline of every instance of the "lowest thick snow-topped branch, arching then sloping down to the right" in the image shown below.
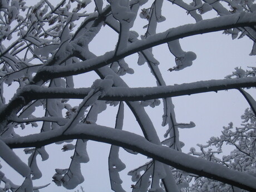
<path fill-rule="evenodd" d="M 69 139 L 89 139 L 106 142 L 137 151 L 140 154 L 173 166 L 174 168 L 184 170 L 188 173 L 205 176 L 206 178 L 218 180 L 245 190 L 256 190 L 254 176 L 234 171 L 211 161 L 184 154 L 166 146 L 152 144 L 144 137 L 131 132 L 88 124 L 77 125 L 75 129 L 67 131 L 65 135 L 63 135 L 62 132 L 62 129 L 58 129 L 42 132 L 40 134 L 3 139 L 3 141 L 12 149 L 41 147 L 57 141 L 65 141 Z"/>

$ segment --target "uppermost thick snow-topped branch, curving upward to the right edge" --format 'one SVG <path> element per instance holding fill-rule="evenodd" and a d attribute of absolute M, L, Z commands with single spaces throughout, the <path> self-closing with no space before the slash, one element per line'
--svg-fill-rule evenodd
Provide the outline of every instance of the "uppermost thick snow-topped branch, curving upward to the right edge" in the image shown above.
<path fill-rule="evenodd" d="M 118 55 L 115 55 L 115 51 L 111 51 L 105 53 L 103 56 L 75 63 L 70 66 L 43 67 L 38 72 L 40 75 L 37 75 L 37 78 L 43 78 L 44 81 L 47 81 L 51 78 L 78 75 L 109 65 L 110 63 L 132 55 L 133 53 L 146 50 L 147 48 L 161 45 L 166 42 L 178 40 L 179 38 L 221 31 L 229 28 L 250 27 L 255 25 L 256 17 L 254 13 L 244 13 L 243 16 L 242 14 L 237 13 L 229 16 L 205 19 L 194 24 L 185 24 L 184 26 L 170 28 L 163 33 L 157 33 L 156 35 L 149 36 L 145 40 L 138 40 L 131 43 L 126 50 L 120 52 Z M 37 79 L 35 79 L 35 81 L 37 81 Z"/>

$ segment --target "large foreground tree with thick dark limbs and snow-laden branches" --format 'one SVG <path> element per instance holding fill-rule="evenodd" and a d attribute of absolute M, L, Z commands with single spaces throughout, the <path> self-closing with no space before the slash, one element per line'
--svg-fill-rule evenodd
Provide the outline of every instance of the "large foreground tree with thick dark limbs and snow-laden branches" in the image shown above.
<path fill-rule="evenodd" d="M 17 185 L 14 178 L 7 178 L 0 170 L 0 179 L 4 183 L 0 191 L 31 192 L 47 186 L 33 186 L 32 180 L 42 177 L 36 157 L 41 156 L 43 161 L 47 160 L 49 155 L 45 146 L 55 143 L 62 144 L 63 151 L 72 150 L 73 155 L 67 168 L 55 170 L 53 181 L 66 189 L 75 189 L 84 181 L 81 163 L 89 161 L 90 154 L 86 151 L 88 140 L 111 144 L 109 176 L 114 191 L 124 191 L 119 175 L 125 168 L 119 158 L 120 147 L 132 154 L 140 153 L 151 158 L 145 165 L 128 173 L 132 181 L 136 182 L 131 185 L 132 191 L 178 192 L 186 184 L 175 178 L 177 170 L 181 175 L 190 173 L 196 177 L 203 176 L 203 183 L 210 186 L 208 191 L 213 189 L 213 182 L 219 181 L 228 184 L 233 191 L 256 190 L 254 171 L 252 175 L 248 174 L 247 165 L 241 166 L 237 171 L 238 160 L 230 161 L 230 158 L 237 157 L 236 152 L 225 157 L 226 160 L 221 164 L 218 159 L 212 162 L 207 158 L 181 152 L 183 142 L 179 141 L 179 129 L 191 128 L 195 124 L 193 121 L 176 122 L 171 100 L 174 96 L 235 88 L 249 102 L 252 111 L 248 111 L 248 114 L 255 117 L 255 100 L 243 89 L 255 87 L 255 67 L 250 68 L 250 71 L 236 68 L 224 80 L 166 85 L 159 68 L 160 62 L 152 51 L 152 47 L 167 44 L 170 55 L 174 56 L 174 64 L 166 67 L 166 71 L 169 70 L 172 75 L 193 67 L 193 62 L 196 61 L 196 53 L 184 51 L 180 38 L 224 31 L 231 34 L 233 39 L 247 36 L 252 40 L 250 55 L 254 56 L 254 1 L 196 0 L 187 3 L 181 0 L 70 0 L 60 1 L 56 6 L 52 3 L 42 0 L 30 7 L 22 0 L 0 2 L 0 156 L 24 177 L 23 183 Z M 161 13 L 163 3 L 184 9 L 195 22 L 157 33 L 157 24 L 166 21 Z M 206 12 L 213 12 L 218 16 L 203 19 Z M 146 29 L 145 34 L 140 37 L 134 31 L 139 17 L 147 22 L 144 27 L 140 26 L 141 29 Z M 112 29 L 118 34 L 118 38 L 114 50 L 97 56 L 91 51 L 90 45 L 99 37 L 104 27 Z M 132 78 L 135 67 L 134 63 L 127 62 L 125 58 L 134 54 L 139 54 L 138 65 L 147 64 L 156 85 L 141 88 L 130 88 L 127 85 L 122 76 L 131 75 Z M 90 78 L 88 73 L 91 71 L 98 77 L 93 80 L 92 85 L 86 87 L 84 85 Z M 78 75 L 82 85 L 78 86 L 81 88 L 74 83 Z M 16 90 L 11 98 L 8 97 L 9 90 Z M 10 100 L 6 101 L 5 96 Z M 72 99 L 79 99 L 80 104 L 73 106 Z M 163 141 L 159 139 L 156 127 L 144 109 L 160 105 L 160 102 L 163 103 L 164 112 L 161 114 L 163 121 L 159 125 L 167 127 Z M 109 105 L 118 106 L 115 127 L 98 125 L 98 115 Z M 135 116 L 139 124 L 137 127 L 140 127 L 143 136 L 122 130 L 125 105 Z M 247 122 L 248 118 L 250 119 L 245 115 L 244 121 Z M 36 133 L 26 131 L 31 126 L 39 127 L 36 128 Z M 19 130 L 20 127 L 22 130 Z M 245 134 L 247 129 L 255 129 L 255 126 L 248 127 L 233 132 L 230 131 L 230 124 L 223 132 L 224 136 L 211 139 L 212 143 L 209 142 L 209 145 L 221 147 L 223 142 L 229 142 L 236 146 L 239 142 L 238 155 L 250 155 L 250 150 L 253 150 L 253 155 L 255 149 L 252 142 L 255 145 L 255 140 L 247 141 L 247 138 L 243 140 L 236 137 L 240 132 Z M 22 136 L 18 132 L 22 132 Z M 234 140 L 233 137 L 237 139 Z M 63 144 L 71 140 L 74 141 Z M 247 142 L 250 144 L 248 149 Z M 24 152 L 29 154 L 28 163 L 24 163 L 12 150 L 15 148 L 25 148 Z M 202 152 L 204 148 L 201 146 Z M 213 154 L 212 151 L 208 153 Z M 193 149 L 191 154 L 198 155 Z M 226 161 L 230 163 L 227 164 Z M 251 165 L 255 166 L 254 163 Z M 244 171 L 247 173 L 243 173 Z"/>

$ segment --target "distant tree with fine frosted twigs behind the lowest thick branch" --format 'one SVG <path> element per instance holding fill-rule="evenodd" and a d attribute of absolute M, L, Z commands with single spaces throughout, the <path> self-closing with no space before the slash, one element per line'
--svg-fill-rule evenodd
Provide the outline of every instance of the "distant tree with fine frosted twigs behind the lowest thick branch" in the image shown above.
<path fill-rule="evenodd" d="M 230 122 L 228 126 L 223 127 L 220 136 L 211 137 L 206 145 L 198 144 L 200 151 L 191 147 L 189 154 L 255 176 L 255 114 L 252 110 L 246 109 L 241 118 L 242 124 L 240 127 L 234 127 L 233 123 Z M 225 147 L 225 145 L 232 146 L 233 149 L 230 154 L 222 156 L 223 146 Z M 175 173 L 178 185 L 185 186 L 181 191 L 246 191 L 220 181 L 188 174 L 184 171 L 175 170 Z M 194 183 L 191 182 L 193 179 Z M 189 186 L 188 183 L 193 184 Z"/>

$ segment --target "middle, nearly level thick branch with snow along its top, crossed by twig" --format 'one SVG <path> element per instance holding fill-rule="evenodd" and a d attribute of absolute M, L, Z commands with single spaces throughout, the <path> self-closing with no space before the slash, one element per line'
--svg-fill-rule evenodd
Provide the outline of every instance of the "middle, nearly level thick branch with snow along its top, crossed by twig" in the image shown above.
<path fill-rule="evenodd" d="M 112 87 L 100 100 L 107 101 L 145 101 L 151 99 L 192 95 L 196 93 L 230 90 L 233 88 L 256 87 L 256 77 L 198 81 L 174 86 L 157 87 Z M 37 99 L 83 99 L 90 88 L 42 88 L 31 85 L 23 88 L 21 95 L 25 100 Z"/>

